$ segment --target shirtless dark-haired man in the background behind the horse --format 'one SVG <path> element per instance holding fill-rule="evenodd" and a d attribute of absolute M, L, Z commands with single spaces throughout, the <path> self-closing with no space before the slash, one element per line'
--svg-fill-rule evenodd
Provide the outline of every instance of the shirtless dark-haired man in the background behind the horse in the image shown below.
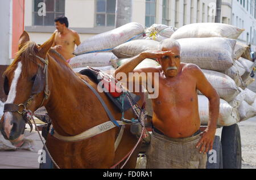
<path fill-rule="evenodd" d="M 69 62 L 74 57 L 75 44 L 81 44 L 79 34 L 72 29 L 68 29 L 68 18 L 61 16 L 54 20 L 56 31 L 53 49 L 57 50 Z"/>

